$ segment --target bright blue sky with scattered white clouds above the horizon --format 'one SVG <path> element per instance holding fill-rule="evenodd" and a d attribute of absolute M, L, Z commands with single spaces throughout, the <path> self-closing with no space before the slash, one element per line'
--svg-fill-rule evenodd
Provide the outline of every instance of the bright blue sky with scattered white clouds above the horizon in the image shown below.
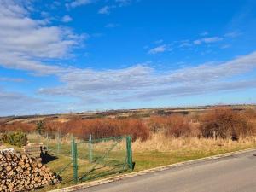
<path fill-rule="evenodd" d="M 0 0 L 0 115 L 255 103 L 255 9 Z"/>

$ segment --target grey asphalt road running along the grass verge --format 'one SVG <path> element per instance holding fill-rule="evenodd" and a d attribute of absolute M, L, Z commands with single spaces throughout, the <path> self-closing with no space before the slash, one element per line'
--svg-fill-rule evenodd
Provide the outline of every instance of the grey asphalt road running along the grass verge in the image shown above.
<path fill-rule="evenodd" d="M 256 192 L 256 150 L 79 190 L 99 192 Z"/>

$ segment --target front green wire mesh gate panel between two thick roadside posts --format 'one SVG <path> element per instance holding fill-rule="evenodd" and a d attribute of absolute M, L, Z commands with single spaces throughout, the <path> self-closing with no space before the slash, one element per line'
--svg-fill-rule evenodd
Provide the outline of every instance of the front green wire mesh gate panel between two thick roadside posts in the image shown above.
<path fill-rule="evenodd" d="M 73 140 L 74 181 L 88 181 L 132 169 L 131 137 Z"/>

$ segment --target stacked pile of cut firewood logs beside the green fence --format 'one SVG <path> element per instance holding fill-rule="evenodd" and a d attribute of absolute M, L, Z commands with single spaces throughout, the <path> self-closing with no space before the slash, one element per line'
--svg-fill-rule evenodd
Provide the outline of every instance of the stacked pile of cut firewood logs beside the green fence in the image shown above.
<path fill-rule="evenodd" d="M 49 168 L 27 154 L 0 153 L 0 191 L 38 189 L 59 180 Z"/>

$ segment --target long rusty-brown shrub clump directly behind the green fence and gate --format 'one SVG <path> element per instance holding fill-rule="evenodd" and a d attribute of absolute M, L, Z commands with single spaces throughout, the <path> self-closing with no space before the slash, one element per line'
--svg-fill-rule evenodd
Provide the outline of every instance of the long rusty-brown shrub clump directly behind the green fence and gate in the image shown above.
<path fill-rule="evenodd" d="M 141 119 L 71 119 L 64 123 L 46 122 L 47 131 L 60 131 L 62 135 L 73 134 L 80 139 L 117 137 L 131 135 L 133 140 L 149 137 L 148 126 Z"/>

